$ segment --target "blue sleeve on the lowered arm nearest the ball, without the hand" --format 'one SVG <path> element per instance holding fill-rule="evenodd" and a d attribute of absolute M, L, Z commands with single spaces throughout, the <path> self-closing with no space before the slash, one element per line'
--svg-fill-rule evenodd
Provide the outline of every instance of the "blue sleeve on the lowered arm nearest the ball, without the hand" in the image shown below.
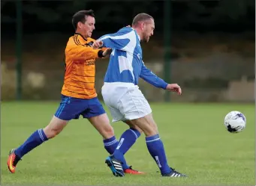
<path fill-rule="evenodd" d="M 162 89 L 166 89 L 168 85 L 167 82 L 155 75 L 150 69 L 146 68 L 144 63 L 140 72 L 140 78 L 143 78 L 143 80 L 149 84 Z"/>

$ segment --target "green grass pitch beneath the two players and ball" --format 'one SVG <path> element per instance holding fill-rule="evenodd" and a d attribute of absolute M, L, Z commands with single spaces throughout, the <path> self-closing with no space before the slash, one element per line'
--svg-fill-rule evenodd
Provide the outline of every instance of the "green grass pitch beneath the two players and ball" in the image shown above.
<path fill-rule="evenodd" d="M 2 103 L 2 185 L 255 185 L 254 105 L 236 104 L 152 104 L 169 164 L 188 179 L 161 177 L 143 135 L 126 159 L 146 175 L 114 177 L 104 164 L 107 152 L 101 136 L 82 119 L 24 156 L 17 173 L 9 173 L 8 151 L 47 125 L 57 106 L 58 102 Z M 224 115 L 232 110 L 247 118 L 239 134 L 230 134 L 223 125 Z M 122 123 L 113 127 L 116 137 L 127 128 Z"/>

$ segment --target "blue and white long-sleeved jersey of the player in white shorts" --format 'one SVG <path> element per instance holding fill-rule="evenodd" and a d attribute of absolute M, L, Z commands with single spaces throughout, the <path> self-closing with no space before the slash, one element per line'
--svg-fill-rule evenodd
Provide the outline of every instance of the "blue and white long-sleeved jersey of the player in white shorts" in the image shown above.
<path fill-rule="evenodd" d="M 167 83 L 146 68 L 143 63 L 140 37 L 133 28 L 125 27 L 115 34 L 107 34 L 98 40 L 113 49 L 104 82 L 138 84 L 139 77 L 155 87 L 165 89 Z"/>

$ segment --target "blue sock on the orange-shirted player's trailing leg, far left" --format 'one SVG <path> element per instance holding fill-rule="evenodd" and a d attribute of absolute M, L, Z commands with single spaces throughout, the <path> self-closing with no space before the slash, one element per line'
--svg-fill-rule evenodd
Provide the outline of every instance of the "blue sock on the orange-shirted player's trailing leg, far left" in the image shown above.
<path fill-rule="evenodd" d="M 15 149 L 15 154 L 22 158 L 23 155 L 26 155 L 32 149 L 35 149 L 35 147 L 40 146 L 41 143 L 46 140 L 48 140 L 48 138 L 44 134 L 43 129 L 39 129 L 35 131 L 21 146 Z"/>

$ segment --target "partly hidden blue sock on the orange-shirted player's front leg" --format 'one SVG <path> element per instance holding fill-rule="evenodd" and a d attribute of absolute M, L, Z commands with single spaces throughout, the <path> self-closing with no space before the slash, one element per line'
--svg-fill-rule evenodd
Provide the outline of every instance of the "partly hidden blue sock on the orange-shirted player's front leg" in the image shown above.
<path fill-rule="evenodd" d="M 113 155 L 113 153 L 116 150 L 116 147 L 118 146 L 119 142 L 118 140 L 116 140 L 116 137 L 110 137 L 109 139 L 103 140 L 104 143 L 104 147 L 107 150 L 108 153 L 110 153 L 110 155 Z M 127 169 L 129 166 L 125 161 L 125 158 L 122 155 L 122 159 L 118 159 L 119 161 L 122 161 L 122 169 Z"/>

